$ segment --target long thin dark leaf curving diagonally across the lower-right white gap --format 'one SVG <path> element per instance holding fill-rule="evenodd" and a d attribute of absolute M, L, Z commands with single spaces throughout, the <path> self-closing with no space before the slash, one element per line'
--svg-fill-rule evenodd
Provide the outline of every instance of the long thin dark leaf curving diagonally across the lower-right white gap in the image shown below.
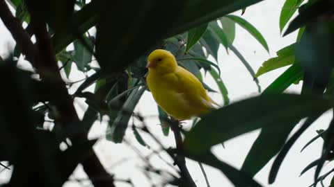
<path fill-rule="evenodd" d="M 315 122 L 317 118 L 319 118 L 319 116 L 321 115 L 316 114 L 315 116 L 309 117 L 303 123 L 303 125 L 299 128 L 299 130 L 297 130 L 297 132 L 294 133 L 294 135 L 292 135 L 292 137 L 287 141 L 287 143 L 285 143 L 282 150 L 280 150 L 280 153 L 277 155 L 276 159 L 273 161 L 273 165 L 271 166 L 271 170 L 269 172 L 269 184 L 273 184 L 273 182 L 275 181 L 280 165 L 282 164 L 283 159 L 287 155 L 287 152 L 290 150 L 292 145 L 294 145 L 294 143 L 299 138 L 299 136 L 301 136 L 301 134 L 303 134 L 303 132 L 305 132 L 305 130 L 308 127 L 310 127 L 310 125 L 312 125 L 312 123 Z"/>

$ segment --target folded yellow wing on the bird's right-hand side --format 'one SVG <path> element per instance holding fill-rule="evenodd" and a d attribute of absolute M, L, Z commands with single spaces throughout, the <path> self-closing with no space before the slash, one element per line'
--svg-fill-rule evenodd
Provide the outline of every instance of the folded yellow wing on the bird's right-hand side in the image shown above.
<path fill-rule="evenodd" d="M 207 91 L 195 75 L 180 66 L 175 75 L 177 76 L 175 89 L 184 94 L 185 100 L 196 107 L 214 108 L 212 104 L 216 105 L 216 102 L 209 98 Z"/>

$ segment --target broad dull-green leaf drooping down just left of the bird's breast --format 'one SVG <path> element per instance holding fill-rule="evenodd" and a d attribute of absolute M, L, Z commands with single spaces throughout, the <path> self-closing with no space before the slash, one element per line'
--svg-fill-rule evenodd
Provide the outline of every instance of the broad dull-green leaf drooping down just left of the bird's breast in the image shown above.
<path fill-rule="evenodd" d="M 140 87 L 137 89 L 134 89 L 127 100 L 125 101 L 122 109 L 120 109 L 120 112 L 118 112 L 118 116 L 116 117 L 115 121 L 113 121 L 113 124 L 111 124 L 111 136 L 112 140 L 115 143 L 121 143 L 123 136 L 125 135 L 125 130 L 127 130 L 127 125 L 129 123 L 129 119 L 132 116 L 132 113 L 134 111 L 134 107 L 136 107 L 139 99 L 143 95 L 146 87 Z"/>

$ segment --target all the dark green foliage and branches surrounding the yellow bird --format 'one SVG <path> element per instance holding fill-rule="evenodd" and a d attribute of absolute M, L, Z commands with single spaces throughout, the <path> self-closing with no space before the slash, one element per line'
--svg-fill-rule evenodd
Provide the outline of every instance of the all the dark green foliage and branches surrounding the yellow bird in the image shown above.
<path fill-rule="evenodd" d="M 169 174 L 166 184 L 196 186 L 184 157 L 221 170 L 235 186 L 261 186 L 253 177 L 274 158 L 269 172 L 269 183 L 273 183 L 295 141 L 333 108 L 334 5 L 326 0 L 303 5 L 303 1 L 286 0 L 280 13 L 280 32 L 287 28 L 284 35 L 295 30 L 299 30 L 299 35 L 296 42 L 277 51 L 277 57 L 263 62 L 255 73 L 234 46 L 236 26 L 248 31 L 268 52 L 269 45 L 255 26 L 232 13 L 241 10 L 244 14 L 248 6 L 260 1 L 0 0 L 0 18 L 16 42 L 15 50 L 0 58 L 0 81 L 6 87 L 0 94 L 1 161 L 8 161 L 15 168 L 5 186 L 63 186 L 79 163 L 94 186 L 115 186 L 116 179 L 93 150 L 97 140 L 87 139 L 93 123 L 104 117 L 108 118 L 107 140 L 127 143 L 125 134 L 133 133 L 146 148 L 150 148 L 145 140 L 148 136 L 161 146 L 161 151 L 180 169 L 180 176 Z M 8 5 L 15 8 L 15 15 Z M 299 15 L 291 20 L 297 10 Z M 259 96 L 230 103 L 218 66 L 220 46 L 227 53 L 232 51 L 244 64 Z M 144 92 L 149 91 L 145 65 L 155 48 L 173 53 L 179 65 L 196 75 L 207 91 L 217 92 L 203 79 L 207 73 L 212 75 L 224 100 L 223 107 L 194 119 L 189 131 L 180 128 L 157 106 L 162 133 L 170 136 L 173 132 L 175 149 L 165 148 L 156 133 L 145 126 L 145 118 L 134 112 Z M 22 55 L 33 71 L 16 66 Z M 69 79 L 73 66 L 86 79 L 65 82 L 61 73 Z M 284 66 L 289 67 L 262 91 L 257 77 Z M 301 94 L 283 94 L 300 80 Z M 78 87 L 70 94 L 73 84 Z M 90 86 L 95 90 L 90 91 Z M 88 106 L 82 119 L 74 109 L 75 98 L 84 98 Z M 306 119 L 303 125 L 289 136 L 302 119 Z M 135 125 L 135 120 L 141 125 Z M 321 157 L 303 171 L 316 168 L 315 186 L 334 171 L 320 176 L 324 163 L 334 158 L 333 121 L 303 148 L 319 137 L 324 141 Z M 51 130 L 45 127 L 47 123 L 52 124 Z M 218 143 L 257 129 L 261 133 L 241 170 L 218 160 L 210 151 Z M 67 144 L 66 150 L 59 148 L 61 143 Z M 145 174 L 168 172 L 152 166 L 145 158 L 143 161 L 148 166 L 143 170 Z M 93 179 L 100 176 L 106 178 Z M 125 182 L 132 184 L 131 180 Z"/>

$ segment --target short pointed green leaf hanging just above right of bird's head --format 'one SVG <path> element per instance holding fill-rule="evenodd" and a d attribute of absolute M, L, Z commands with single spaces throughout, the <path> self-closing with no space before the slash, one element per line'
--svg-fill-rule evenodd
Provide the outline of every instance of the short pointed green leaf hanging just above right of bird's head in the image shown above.
<path fill-rule="evenodd" d="M 200 39 L 200 44 L 205 47 L 208 54 L 212 55 L 216 61 L 218 60 L 219 43 L 217 42 L 212 30 L 207 29 L 205 31 L 204 35 Z"/>

